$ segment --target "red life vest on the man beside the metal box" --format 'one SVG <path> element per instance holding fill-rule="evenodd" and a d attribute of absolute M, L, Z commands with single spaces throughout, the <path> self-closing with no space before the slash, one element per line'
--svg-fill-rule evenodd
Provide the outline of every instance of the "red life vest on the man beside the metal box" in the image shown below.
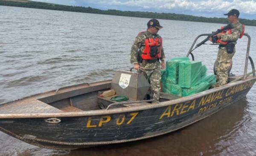
<path fill-rule="evenodd" d="M 139 34 L 145 34 L 146 39 L 144 41 L 145 48 L 141 54 L 141 57 L 143 60 L 150 60 L 150 59 L 155 59 L 155 58 L 160 58 L 161 57 L 161 50 L 162 50 L 162 45 L 163 45 L 163 39 L 162 38 L 149 38 L 145 31 L 140 32 Z M 150 51 L 151 48 L 157 48 L 157 54 L 155 57 L 150 56 Z"/>

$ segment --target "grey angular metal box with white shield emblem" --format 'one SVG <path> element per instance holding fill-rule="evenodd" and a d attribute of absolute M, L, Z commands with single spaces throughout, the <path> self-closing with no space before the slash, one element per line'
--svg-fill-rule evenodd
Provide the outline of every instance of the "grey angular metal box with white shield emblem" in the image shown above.
<path fill-rule="evenodd" d="M 143 100 L 150 84 L 143 73 L 117 71 L 111 82 L 111 89 L 117 95 L 126 95 L 131 99 Z"/>

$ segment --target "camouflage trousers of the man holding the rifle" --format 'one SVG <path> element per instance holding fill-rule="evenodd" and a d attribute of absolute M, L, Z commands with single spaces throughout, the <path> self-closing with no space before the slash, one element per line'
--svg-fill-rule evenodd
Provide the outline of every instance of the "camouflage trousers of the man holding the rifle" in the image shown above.
<path fill-rule="evenodd" d="M 225 47 L 219 48 L 217 60 L 215 62 L 215 73 L 217 75 L 217 83 L 215 84 L 215 86 L 227 84 L 228 70 L 235 52 L 236 48 L 234 48 L 234 52 L 231 54 L 227 53 Z"/>

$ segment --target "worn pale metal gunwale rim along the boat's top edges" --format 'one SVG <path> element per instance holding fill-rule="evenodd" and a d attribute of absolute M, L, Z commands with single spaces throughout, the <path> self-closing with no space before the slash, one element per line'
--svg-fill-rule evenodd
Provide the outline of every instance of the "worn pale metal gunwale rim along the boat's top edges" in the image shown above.
<path fill-rule="evenodd" d="M 177 103 L 182 103 L 182 102 L 186 102 L 186 101 L 189 101 L 189 100 L 197 99 L 199 97 L 206 96 L 208 94 L 212 94 L 212 93 L 217 92 L 217 91 L 222 91 L 224 89 L 227 89 L 227 88 L 230 88 L 232 86 L 239 85 L 239 84 L 251 81 L 253 79 L 256 79 L 256 77 L 249 76 L 245 80 L 241 79 L 239 81 L 228 83 L 227 85 L 223 85 L 223 86 L 220 86 L 218 88 L 212 88 L 212 89 L 209 89 L 207 91 L 202 91 L 200 93 L 192 94 L 192 95 L 189 95 L 189 96 L 184 96 L 184 97 L 181 97 L 181 98 L 178 98 L 178 99 L 168 100 L 168 101 L 165 101 L 165 102 L 159 102 L 158 104 L 148 104 L 148 105 L 140 105 L 140 106 L 133 106 L 133 107 L 125 107 L 125 108 L 113 108 L 113 109 L 109 109 L 109 110 L 101 109 L 101 110 L 81 111 L 81 112 L 0 114 L 0 119 L 96 116 L 96 115 L 106 115 L 106 114 L 113 114 L 113 113 L 143 111 L 143 110 L 147 110 L 147 109 L 166 107 L 166 106 L 169 106 L 169 105 L 175 105 Z M 109 82 L 109 80 L 101 81 L 101 82 L 105 82 L 107 84 Z M 91 84 L 95 85 L 97 83 L 99 83 L 99 82 L 93 82 L 93 83 L 90 83 L 90 85 Z M 88 87 L 90 87 L 90 85 Z M 67 88 L 67 90 L 70 90 L 71 88 L 72 88 L 72 86 L 70 86 L 70 88 Z M 74 87 L 74 88 L 76 88 L 76 87 Z M 53 90 L 53 91 L 56 91 L 56 90 Z M 52 94 L 53 91 L 48 91 L 48 92 L 44 92 L 44 93 L 41 93 L 41 94 Z M 64 90 L 59 91 L 58 94 L 59 93 L 65 93 L 65 91 Z M 35 95 L 32 95 L 32 96 L 24 97 L 22 99 L 17 99 L 17 100 L 14 100 L 14 101 L 9 101 L 9 102 L 6 102 L 6 103 L 2 103 L 2 104 L 0 104 L 0 106 L 5 105 L 5 104 L 12 104 L 12 102 L 17 102 L 19 100 L 27 99 L 29 97 L 36 97 L 36 96 L 39 96 L 41 94 L 35 94 Z M 134 102 L 134 103 L 136 103 L 136 102 Z"/>

